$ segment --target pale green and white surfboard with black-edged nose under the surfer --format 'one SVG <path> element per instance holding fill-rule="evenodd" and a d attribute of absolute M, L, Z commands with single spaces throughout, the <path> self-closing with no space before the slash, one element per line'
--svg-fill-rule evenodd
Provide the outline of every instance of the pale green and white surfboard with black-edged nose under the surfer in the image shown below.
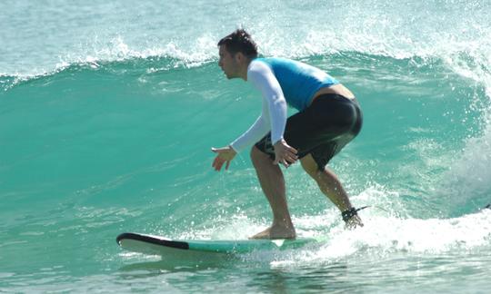
<path fill-rule="evenodd" d="M 125 232 L 116 242 L 124 250 L 153 255 L 190 253 L 235 254 L 255 250 L 291 250 L 321 241 L 319 238 L 296 238 L 295 240 L 171 240 L 161 236 Z"/>

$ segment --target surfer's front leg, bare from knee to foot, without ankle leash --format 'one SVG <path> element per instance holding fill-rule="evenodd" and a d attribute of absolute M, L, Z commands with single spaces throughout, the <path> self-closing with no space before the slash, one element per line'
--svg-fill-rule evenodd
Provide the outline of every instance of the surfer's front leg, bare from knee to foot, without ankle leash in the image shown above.
<path fill-rule="evenodd" d="M 256 168 L 257 178 L 273 211 L 273 225 L 256 234 L 251 239 L 295 238 L 296 232 L 286 203 L 285 178 L 279 165 L 264 152 L 254 146 L 251 159 Z"/>

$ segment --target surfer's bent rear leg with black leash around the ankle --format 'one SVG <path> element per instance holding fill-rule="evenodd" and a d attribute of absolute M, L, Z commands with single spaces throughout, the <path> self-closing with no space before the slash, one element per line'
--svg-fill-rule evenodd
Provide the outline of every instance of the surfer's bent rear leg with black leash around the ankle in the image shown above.
<path fill-rule="evenodd" d="M 317 182 L 320 190 L 333 201 L 339 211 L 347 211 L 353 206 L 346 194 L 341 181 L 337 179 L 336 174 L 329 170 L 327 167 L 324 171 L 320 171 L 317 167 L 317 163 L 311 154 L 307 154 L 300 160 L 304 170 Z M 348 228 L 356 228 L 356 226 L 363 226 L 363 222 L 355 215 L 346 223 Z"/>

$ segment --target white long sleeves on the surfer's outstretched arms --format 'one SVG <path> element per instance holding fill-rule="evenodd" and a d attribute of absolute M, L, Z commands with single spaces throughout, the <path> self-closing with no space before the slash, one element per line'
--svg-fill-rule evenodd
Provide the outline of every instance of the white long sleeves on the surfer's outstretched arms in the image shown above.
<path fill-rule="evenodd" d="M 252 61 L 247 68 L 247 80 L 255 85 L 263 98 L 263 112 L 256 122 L 230 145 L 235 152 L 259 141 L 271 130 L 271 142 L 283 139 L 286 126 L 286 100 L 271 68 L 260 61 Z"/>

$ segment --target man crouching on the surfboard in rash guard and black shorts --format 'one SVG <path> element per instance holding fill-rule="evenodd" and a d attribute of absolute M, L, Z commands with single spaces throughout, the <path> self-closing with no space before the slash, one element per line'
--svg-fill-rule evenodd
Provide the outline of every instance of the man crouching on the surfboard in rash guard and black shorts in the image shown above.
<path fill-rule="evenodd" d="M 341 211 L 347 228 L 363 226 L 336 174 L 326 167 L 362 126 L 355 95 L 324 71 L 290 59 L 258 58 L 256 43 L 243 29 L 218 44 L 218 65 L 228 79 L 242 78 L 261 93 L 263 109 L 256 122 L 216 153 L 220 171 L 238 152 L 253 145 L 251 159 L 273 211 L 273 224 L 253 239 L 292 239 L 296 230 L 286 203 L 286 184 L 279 164 L 300 161 L 320 190 Z M 286 104 L 299 112 L 287 118 Z"/>

